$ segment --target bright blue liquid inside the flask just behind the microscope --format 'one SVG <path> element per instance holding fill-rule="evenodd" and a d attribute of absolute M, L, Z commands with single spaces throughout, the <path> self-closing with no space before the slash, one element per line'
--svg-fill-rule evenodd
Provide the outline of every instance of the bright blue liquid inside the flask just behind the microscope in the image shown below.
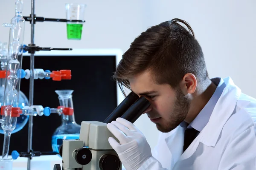
<path fill-rule="evenodd" d="M 61 134 L 61 135 L 54 135 L 52 136 L 52 150 L 53 152 L 59 153 L 59 147 L 62 144 L 62 140 L 68 139 L 79 139 L 79 133 L 76 134 Z"/>

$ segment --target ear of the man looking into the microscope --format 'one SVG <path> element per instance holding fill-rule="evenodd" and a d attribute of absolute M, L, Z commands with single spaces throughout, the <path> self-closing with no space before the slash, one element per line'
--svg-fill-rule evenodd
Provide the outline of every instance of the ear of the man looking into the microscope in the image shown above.
<path fill-rule="evenodd" d="M 187 73 L 184 75 L 181 81 L 181 89 L 183 93 L 186 94 L 193 94 L 195 92 L 197 86 L 197 79 L 194 74 Z"/>

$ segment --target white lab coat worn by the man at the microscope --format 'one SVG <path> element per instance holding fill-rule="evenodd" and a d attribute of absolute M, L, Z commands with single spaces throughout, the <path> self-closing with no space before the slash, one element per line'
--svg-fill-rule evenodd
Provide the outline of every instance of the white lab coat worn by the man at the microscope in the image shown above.
<path fill-rule="evenodd" d="M 183 153 L 184 128 L 160 133 L 138 170 L 256 170 L 256 99 L 228 77 L 208 124 Z"/>

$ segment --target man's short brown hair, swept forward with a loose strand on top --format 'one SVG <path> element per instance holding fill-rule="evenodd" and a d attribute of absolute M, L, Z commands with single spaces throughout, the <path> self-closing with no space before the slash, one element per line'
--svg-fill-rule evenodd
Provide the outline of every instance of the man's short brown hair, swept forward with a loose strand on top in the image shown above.
<path fill-rule="evenodd" d="M 177 22 L 187 26 L 192 34 Z M 198 82 L 207 79 L 203 51 L 186 21 L 175 18 L 141 33 L 123 54 L 113 78 L 125 95 L 122 86 L 131 89 L 128 79 L 146 70 L 154 82 L 172 88 L 187 73 L 194 74 Z"/>

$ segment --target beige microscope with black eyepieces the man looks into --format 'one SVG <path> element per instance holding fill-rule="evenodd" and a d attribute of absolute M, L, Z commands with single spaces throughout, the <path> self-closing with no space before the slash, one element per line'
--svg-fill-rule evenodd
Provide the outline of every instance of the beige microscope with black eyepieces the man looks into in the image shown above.
<path fill-rule="evenodd" d="M 122 170 L 122 163 L 108 142 L 109 137 L 116 138 L 107 124 L 118 117 L 134 123 L 149 106 L 144 96 L 131 92 L 104 122 L 83 121 L 79 139 L 63 140 L 59 149 L 62 168 L 55 164 L 53 170 Z"/>

